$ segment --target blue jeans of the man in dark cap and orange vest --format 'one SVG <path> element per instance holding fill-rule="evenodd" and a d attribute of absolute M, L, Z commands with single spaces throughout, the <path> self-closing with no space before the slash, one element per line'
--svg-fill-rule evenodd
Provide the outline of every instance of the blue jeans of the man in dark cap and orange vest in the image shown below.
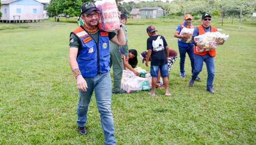
<path fill-rule="evenodd" d="M 209 53 L 206 55 L 196 55 L 195 54 L 195 69 L 192 73 L 192 79 L 195 80 L 195 78 L 198 76 L 198 74 L 202 71 L 203 64 L 206 64 L 207 68 L 207 87 L 213 87 L 213 79 L 214 79 L 214 57 L 211 57 Z"/>

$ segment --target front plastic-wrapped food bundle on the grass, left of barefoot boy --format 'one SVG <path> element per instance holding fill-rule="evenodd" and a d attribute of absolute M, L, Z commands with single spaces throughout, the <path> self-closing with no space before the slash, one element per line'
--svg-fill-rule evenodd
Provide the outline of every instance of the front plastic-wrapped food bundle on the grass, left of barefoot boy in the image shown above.
<path fill-rule="evenodd" d="M 129 78 L 124 84 L 123 88 L 127 93 L 140 92 L 141 90 L 150 90 L 150 79 L 133 76 Z"/>

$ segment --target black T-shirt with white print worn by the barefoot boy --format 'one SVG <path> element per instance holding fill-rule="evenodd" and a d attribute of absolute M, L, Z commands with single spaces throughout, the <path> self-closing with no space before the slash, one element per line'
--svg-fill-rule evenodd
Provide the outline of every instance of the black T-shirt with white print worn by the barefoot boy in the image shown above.
<path fill-rule="evenodd" d="M 162 35 L 151 36 L 147 40 L 147 50 L 151 49 L 151 65 L 167 64 L 166 40 Z"/>

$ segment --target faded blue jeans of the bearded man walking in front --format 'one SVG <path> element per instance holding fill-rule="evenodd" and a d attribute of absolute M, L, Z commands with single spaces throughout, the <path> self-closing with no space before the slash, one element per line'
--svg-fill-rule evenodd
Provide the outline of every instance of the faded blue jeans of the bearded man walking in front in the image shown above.
<path fill-rule="evenodd" d="M 79 91 L 79 103 L 77 106 L 77 124 L 84 127 L 87 121 L 87 111 L 90 100 L 95 91 L 96 104 L 100 113 L 100 119 L 105 136 L 105 145 L 115 145 L 114 123 L 111 111 L 111 77 L 110 73 L 100 73 L 92 78 L 84 78 L 87 83 L 87 91 Z"/>

